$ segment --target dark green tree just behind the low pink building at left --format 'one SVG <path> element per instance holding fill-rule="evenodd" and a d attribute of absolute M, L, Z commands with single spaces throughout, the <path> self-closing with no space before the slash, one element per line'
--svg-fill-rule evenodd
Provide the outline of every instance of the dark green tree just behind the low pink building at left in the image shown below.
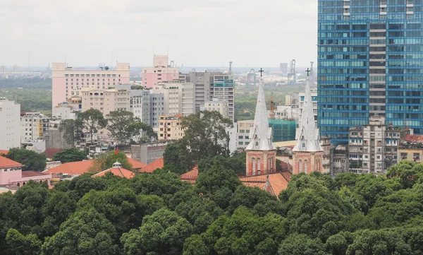
<path fill-rule="evenodd" d="M 20 162 L 25 165 L 22 167 L 23 171 L 42 172 L 47 165 L 46 155 L 36 153 L 34 150 L 26 150 L 24 148 L 11 148 L 6 155 L 6 158 Z"/>

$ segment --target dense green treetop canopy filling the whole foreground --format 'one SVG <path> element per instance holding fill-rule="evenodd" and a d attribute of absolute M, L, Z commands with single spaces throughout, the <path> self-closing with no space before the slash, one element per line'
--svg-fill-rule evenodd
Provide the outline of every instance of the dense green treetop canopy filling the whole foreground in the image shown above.
<path fill-rule="evenodd" d="M 164 170 L 28 182 L 0 195 L 1 254 L 422 254 L 422 164 L 298 174 L 278 198 L 203 167 L 195 186 Z"/>

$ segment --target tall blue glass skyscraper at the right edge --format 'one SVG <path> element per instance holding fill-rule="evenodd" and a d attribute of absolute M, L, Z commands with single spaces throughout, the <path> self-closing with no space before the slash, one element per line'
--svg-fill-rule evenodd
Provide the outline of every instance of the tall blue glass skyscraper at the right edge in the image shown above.
<path fill-rule="evenodd" d="M 319 0 L 318 126 L 335 145 L 381 115 L 423 134 L 423 0 Z"/>

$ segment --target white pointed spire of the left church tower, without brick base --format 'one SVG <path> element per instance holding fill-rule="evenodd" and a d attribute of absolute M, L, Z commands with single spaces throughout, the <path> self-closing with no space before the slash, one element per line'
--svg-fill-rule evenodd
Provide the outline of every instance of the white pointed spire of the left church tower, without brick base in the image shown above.
<path fill-rule="evenodd" d="M 273 150 L 271 128 L 267 119 L 266 100 L 264 97 L 264 81 L 260 79 L 259 93 L 254 117 L 254 125 L 250 129 L 250 144 L 245 150 Z"/>

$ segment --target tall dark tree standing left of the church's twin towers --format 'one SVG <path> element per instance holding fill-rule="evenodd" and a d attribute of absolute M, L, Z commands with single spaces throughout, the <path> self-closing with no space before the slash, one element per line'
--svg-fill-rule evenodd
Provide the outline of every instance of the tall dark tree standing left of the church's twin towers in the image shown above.
<path fill-rule="evenodd" d="M 226 128 L 232 126 L 231 119 L 216 111 L 204 111 L 184 117 L 181 126 L 184 136 L 180 140 L 178 153 L 180 158 L 186 155 L 189 158 L 183 165 L 184 169 L 192 169 L 202 158 L 229 155 Z"/>

